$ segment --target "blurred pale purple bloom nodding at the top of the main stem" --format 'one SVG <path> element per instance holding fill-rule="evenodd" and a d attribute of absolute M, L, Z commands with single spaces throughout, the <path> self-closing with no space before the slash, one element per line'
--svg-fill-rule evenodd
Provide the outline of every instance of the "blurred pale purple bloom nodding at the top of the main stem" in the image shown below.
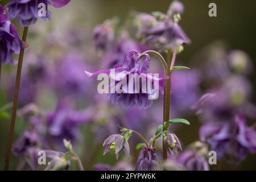
<path fill-rule="evenodd" d="M 182 44 L 191 42 L 182 28 L 168 19 L 159 22 L 154 28 L 144 31 L 144 35 L 150 42 L 156 43 L 157 46 L 164 49 L 175 49 Z"/>

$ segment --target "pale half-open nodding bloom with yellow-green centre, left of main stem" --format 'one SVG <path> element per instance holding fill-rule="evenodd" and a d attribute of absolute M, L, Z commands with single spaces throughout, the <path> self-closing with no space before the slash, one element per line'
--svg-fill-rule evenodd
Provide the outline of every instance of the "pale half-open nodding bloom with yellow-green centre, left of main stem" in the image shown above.
<path fill-rule="evenodd" d="M 105 146 L 103 155 L 108 153 L 110 150 L 113 150 L 115 152 L 115 155 L 117 155 L 117 159 L 118 159 L 120 152 L 123 150 L 127 158 L 129 158 L 130 147 L 123 135 L 119 135 L 119 134 L 110 135 L 108 138 L 105 139 L 103 146 Z"/>

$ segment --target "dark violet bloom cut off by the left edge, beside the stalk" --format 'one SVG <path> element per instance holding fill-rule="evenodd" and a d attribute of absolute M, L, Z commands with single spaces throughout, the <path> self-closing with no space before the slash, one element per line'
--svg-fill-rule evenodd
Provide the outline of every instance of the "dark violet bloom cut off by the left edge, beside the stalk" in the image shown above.
<path fill-rule="evenodd" d="M 7 12 L 0 5 L 0 61 L 3 64 L 14 63 L 13 53 L 18 54 L 20 40 L 18 31 L 7 18 Z"/>

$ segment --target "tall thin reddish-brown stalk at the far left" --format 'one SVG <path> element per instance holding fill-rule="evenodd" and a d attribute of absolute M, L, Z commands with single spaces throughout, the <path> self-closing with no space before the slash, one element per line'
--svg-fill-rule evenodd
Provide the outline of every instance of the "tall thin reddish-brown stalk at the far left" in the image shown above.
<path fill-rule="evenodd" d="M 28 27 L 24 27 L 23 35 L 22 35 L 22 40 L 24 42 L 26 42 L 26 40 L 27 40 L 27 31 L 28 31 Z M 15 91 L 14 91 L 13 113 L 11 115 L 11 126 L 10 126 L 9 141 L 8 141 L 8 147 L 7 147 L 6 160 L 5 160 L 5 170 L 6 171 L 9 169 L 11 146 L 13 144 L 13 135 L 14 135 L 17 105 L 18 105 L 19 85 L 20 85 L 20 76 L 21 76 L 21 72 L 22 72 L 23 56 L 24 56 L 24 48 L 20 47 L 19 62 L 18 62 L 18 68 L 17 68 L 17 73 L 16 73 L 16 83 L 15 83 Z"/>

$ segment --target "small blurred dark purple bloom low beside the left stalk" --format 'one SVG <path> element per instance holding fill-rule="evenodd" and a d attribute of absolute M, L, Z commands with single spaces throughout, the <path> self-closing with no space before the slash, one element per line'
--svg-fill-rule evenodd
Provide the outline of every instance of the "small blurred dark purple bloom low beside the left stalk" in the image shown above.
<path fill-rule="evenodd" d="M 25 131 L 13 145 L 14 155 L 25 155 L 28 148 L 35 147 L 39 141 L 39 135 L 35 131 Z"/>

